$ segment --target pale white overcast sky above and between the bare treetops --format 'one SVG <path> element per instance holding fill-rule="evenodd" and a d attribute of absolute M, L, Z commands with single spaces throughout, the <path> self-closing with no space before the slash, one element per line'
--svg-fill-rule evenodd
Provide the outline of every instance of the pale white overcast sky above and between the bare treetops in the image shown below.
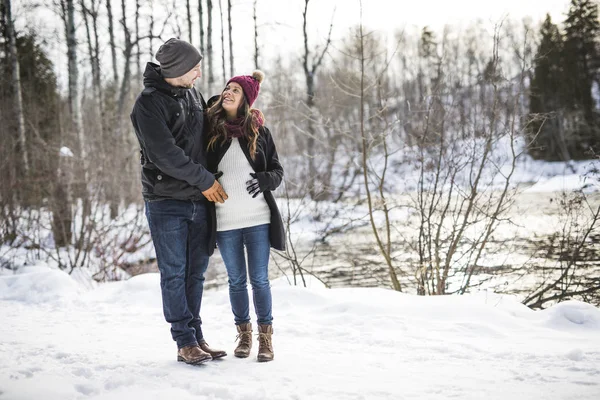
<path fill-rule="evenodd" d="M 223 12 L 226 18 L 226 1 L 223 2 Z M 182 38 L 187 39 L 185 21 L 185 2 L 177 0 L 179 4 L 178 23 L 182 27 Z M 64 28 L 58 16 L 47 8 L 39 8 L 36 12 L 27 12 L 23 5 L 31 3 L 30 0 L 21 0 L 13 2 L 13 15 L 17 19 L 17 28 L 19 26 L 35 26 L 41 31 L 41 36 L 48 39 L 48 49 L 53 54 L 53 61 L 57 63 L 57 72 L 60 75 L 66 70 L 66 49 L 64 40 Z M 117 2 L 118 3 L 118 2 Z M 116 18 L 121 17 L 120 4 L 113 4 Z M 128 7 L 133 10 L 135 2 L 129 0 Z M 197 2 L 192 0 L 194 15 L 197 16 Z M 253 19 L 252 6 L 254 0 L 232 0 L 232 19 L 233 19 L 233 46 L 236 57 L 235 73 L 249 73 L 252 68 L 253 60 Z M 466 26 L 476 20 L 481 20 L 484 24 L 493 29 L 495 23 L 503 18 L 509 18 L 513 21 L 520 21 L 523 18 L 530 18 L 533 26 L 537 26 L 550 13 L 555 23 L 564 20 L 568 11 L 570 0 L 364 0 L 363 1 L 363 23 L 370 30 L 381 30 L 392 33 L 398 30 L 414 31 L 420 30 L 427 25 L 433 30 L 441 30 L 444 25 Z M 142 1 L 141 4 L 147 4 Z M 162 4 L 172 3 L 169 1 L 154 0 L 155 8 Z M 311 48 L 315 44 L 323 44 L 327 36 L 329 24 L 334 15 L 334 39 L 340 39 L 348 34 L 348 29 L 356 26 L 360 20 L 358 0 L 311 0 L 308 9 L 308 30 Z M 220 65 L 220 16 L 218 1 L 213 0 L 214 5 L 214 48 L 215 63 Z M 304 9 L 304 0 L 258 0 L 258 23 L 260 24 L 259 36 L 260 46 L 263 55 L 272 56 L 282 54 L 284 58 L 290 59 L 290 62 L 296 62 L 303 52 L 302 40 L 302 11 Z M 105 12 L 104 6 L 102 12 Z M 128 15 L 130 26 L 133 21 L 133 11 Z M 157 19 L 164 13 L 158 12 Z M 79 20 L 81 19 L 78 16 Z M 197 17 L 196 17 L 197 19 Z M 81 22 L 81 21 L 80 21 Z M 158 22 L 157 22 L 158 24 Z M 106 29 L 106 24 L 104 24 Z M 196 42 L 198 38 L 197 24 L 193 28 Z M 51 36 L 48 32 L 57 38 L 48 38 Z M 85 42 L 85 29 L 83 24 L 79 24 L 77 29 L 79 40 Z M 122 33 L 117 32 L 118 40 Z M 227 29 L 225 29 L 227 35 Z M 165 38 L 168 38 L 167 35 Z M 104 35 L 106 37 L 106 35 Z M 225 39 L 226 43 L 228 39 Z M 194 43 L 196 46 L 199 43 Z M 155 43 L 155 50 L 158 43 Z M 82 46 L 82 51 L 85 47 Z M 64 51 L 63 51 L 64 50 Z M 290 56 L 286 56 L 291 53 Z M 297 55 L 297 56 L 296 56 Z M 228 56 L 226 56 L 228 58 Z M 149 56 L 145 57 L 149 61 Z M 109 60 L 108 53 L 105 57 Z"/>

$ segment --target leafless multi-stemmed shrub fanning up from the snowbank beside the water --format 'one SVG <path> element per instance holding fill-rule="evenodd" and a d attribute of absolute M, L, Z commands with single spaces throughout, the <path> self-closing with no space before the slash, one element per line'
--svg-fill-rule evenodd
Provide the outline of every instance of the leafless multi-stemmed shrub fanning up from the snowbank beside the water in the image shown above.
<path fill-rule="evenodd" d="M 459 56 L 452 53 L 457 48 L 450 46 L 447 34 L 437 44 L 422 36 L 421 46 L 432 43 L 432 49 L 420 49 L 425 61 L 418 68 L 421 97 L 407 117 L 420 121 L 407 124 L 418 152 L 413 199 L 419 227 L 414 270 L 418 294 L 462 294 L 480 284 L 473 278 L 493 251 L 492 234 L 506 222 L 505 213 L 514 202 L 511 181 L 523 152 L 516 147 L 521 116 L 510 110 L 518 110 L 523 98 L 527 60 L 521 60 L 517 79 L 504 77 L 501 28 L 495 27 L 492 57 L 467 100 L 479 110 L 470 115 L 460 105 L 466 89 L 452 83 L 456 70 L 448 63 Z M 495 156 L 499 142 L 509 154 Z"/>

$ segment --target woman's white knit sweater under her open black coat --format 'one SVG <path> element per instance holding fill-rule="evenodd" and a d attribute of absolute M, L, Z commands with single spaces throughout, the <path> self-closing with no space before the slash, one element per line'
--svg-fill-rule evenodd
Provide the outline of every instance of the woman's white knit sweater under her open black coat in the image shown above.
<path fill-rule="evenodd" d="M 246 182 L 254 172 L 246 159 L 240 142 L 233 138 L 231 146 L 219 163 L 223 176 L 219 183 L 229 197 L 224 203 L 215 203 L 217 209 L 217 231 L 248 228 L 271 222 L 271 211 L 261 193 L 255 198 L 248 193 Z"/>

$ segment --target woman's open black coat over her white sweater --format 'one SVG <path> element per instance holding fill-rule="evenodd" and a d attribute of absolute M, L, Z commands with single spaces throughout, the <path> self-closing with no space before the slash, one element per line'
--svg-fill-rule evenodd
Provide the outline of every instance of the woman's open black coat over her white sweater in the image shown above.
<path fill-rule="evenodd" d="M 240 147 L 246 156 L 246 159 L 252 166 L 252 169 L 256 172 L 256 177 L 259 181 L 261 188 L 266 190 L 263 192 L 265 200 L 271 210 L 271 223 L 269 225 L 269 239 L 271 247 L 276 250 L 285 250 L 285 229 L 275 197 L 272 191 L 277 189 L 283 180 L 283 167 L 279 163 L 279 156 L 277 155 L 277 149 L 275 148 L 275 142 L 271 132 L 266 127 L 262 127 L 259 131 L 258 140 L 256 142 L 256 156 L 254 160 L 250 157 L 250 150 L 248 148 L 248 141 L 241 137 L 239 138 Z M 219 162 L 229 149 L 231 140 L 220 144 L 217 142 L 217 146 L 207 152 L 208 158 L 208 170 L 212 173 L 217 172 Z M 248 195 L 249 196 L 249 195 Z M 225 200 L 227 201 L 227 200 Z M 216 223 L 216 211 L 214 203 L 209 204 L 209 211 L 211 215 L 211 243 L 210 246 L 214 247 L 215 233 L 217 229 Z"/>

